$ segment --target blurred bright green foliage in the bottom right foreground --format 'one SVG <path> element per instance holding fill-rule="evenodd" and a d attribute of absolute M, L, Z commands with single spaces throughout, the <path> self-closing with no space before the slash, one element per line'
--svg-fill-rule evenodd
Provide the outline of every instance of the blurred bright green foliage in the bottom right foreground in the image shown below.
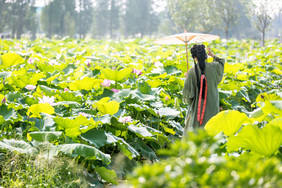
<path fill-rule="evenodd" d="M 190 132 L 188 140 L 171 144 L 158 153 L 164 158 L 146 163 L 128 175 L 132 187 L 280 187 L 281 160 L 253 153 L 228 156 L 220 140 L 203 130 Z M 221 152 L 220 152 L 221 151 Z"/>

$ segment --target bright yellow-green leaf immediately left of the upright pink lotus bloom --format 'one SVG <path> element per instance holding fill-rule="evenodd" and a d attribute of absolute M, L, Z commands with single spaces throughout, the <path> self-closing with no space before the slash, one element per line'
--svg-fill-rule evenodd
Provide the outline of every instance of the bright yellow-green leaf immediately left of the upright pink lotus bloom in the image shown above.
<path fill-rule="evenodd" d="M 71 82 L 69 88 L 72 91 L 79 91 L 83 89 L 86 91 L 90 91 L 93 88 L 98 89 L 101 85 L 101 82 L 101 79 L 84 77 L 82 80 L 75 80 Z"/>

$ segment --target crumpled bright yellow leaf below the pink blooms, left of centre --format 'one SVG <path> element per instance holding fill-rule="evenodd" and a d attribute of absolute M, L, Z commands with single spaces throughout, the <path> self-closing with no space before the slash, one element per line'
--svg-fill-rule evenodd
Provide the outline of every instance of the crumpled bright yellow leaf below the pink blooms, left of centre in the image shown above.
<path fill-rule="evenodd" d="M 109 97 L 104 97 L 100 99 L 97 103 L 94 103 L 93 107 L 97 107 L 99 112 L 101 112 L 102 114 L 114 115 L 119 110 L 119 103 L 117 101 L 108 102 L 109 100 Z"/>

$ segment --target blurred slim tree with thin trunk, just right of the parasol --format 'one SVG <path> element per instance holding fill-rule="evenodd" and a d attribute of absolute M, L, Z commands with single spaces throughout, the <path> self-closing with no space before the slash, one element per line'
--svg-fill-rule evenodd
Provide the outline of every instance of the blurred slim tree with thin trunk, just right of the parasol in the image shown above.
<path fill-rule="evenodd" d="M 224 26 L 225 38 L 228 38 L 229 30 L 232 26 L 237 24 L 238 15 L 238 0 L 217 0 L 216 13 L 219 21 L 219 26 Z"/>

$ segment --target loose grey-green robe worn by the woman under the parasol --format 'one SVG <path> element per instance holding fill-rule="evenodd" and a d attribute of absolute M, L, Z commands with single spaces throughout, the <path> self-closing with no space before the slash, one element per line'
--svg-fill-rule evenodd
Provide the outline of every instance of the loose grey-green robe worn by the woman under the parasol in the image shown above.
<path fill-rule="evenodd" d="M 199 88 L 197 86 L 195 66 L 188 71 L 183 88 L 183 99 L 185 103 L 188 103 L 188 111 L 185 118 L 185 128 L 183 133 L 184 137 L 186 136 L 188 129 L 204 127 L 208 120 L 219 112 L 219 94 L 217 85 L 221 82 L 223 77 L 224 62 L 224 59 L 214 57 L 214 61 L 212 63 L 205 63 L 204 74 L 208 83 L 208 92 L 206 110 L 202 125 L 199 125 L 197 120 Z M 200 76 L 201 70 L 199 65 L 197 65 L 197 68 Z M 203 108 L 203 101 L 204 99 L 202 99 L 201 111 Z"/>

